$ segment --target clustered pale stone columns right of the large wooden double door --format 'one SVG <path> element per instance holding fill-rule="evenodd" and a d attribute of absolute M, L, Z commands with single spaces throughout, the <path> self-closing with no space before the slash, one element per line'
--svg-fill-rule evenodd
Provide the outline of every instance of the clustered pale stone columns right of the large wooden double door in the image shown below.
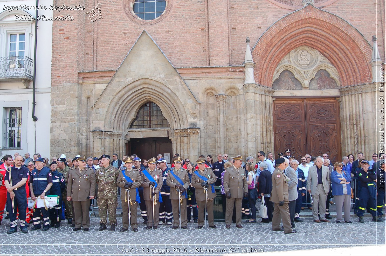
<path fill-rule="evenodd" d="M 372 153 L 379 150 L 377 84 L 379 83 L 339 89 L 342 155 L 362 152 L 365 159 L 371 159 Z"/>

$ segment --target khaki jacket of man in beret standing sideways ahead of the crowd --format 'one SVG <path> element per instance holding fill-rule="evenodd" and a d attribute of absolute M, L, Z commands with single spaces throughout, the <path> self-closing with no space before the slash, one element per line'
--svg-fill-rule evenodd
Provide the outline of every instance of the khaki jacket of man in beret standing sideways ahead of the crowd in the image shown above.
<path fill-rule="evenodd" d="M 276 168 L 272 174 L 272 192 L 269 201 L 279 203 L 280 201 L 288 202 L 288 182 L 284 172 Z"/>

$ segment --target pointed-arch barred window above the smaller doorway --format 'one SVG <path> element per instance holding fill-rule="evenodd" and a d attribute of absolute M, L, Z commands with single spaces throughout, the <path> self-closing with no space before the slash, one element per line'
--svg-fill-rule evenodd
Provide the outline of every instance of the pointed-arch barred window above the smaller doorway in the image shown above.
<path fill-rule="evenodd" d="M 147 102 L 137 112 L 130 128 L 164 128 L 170 127 L 161 109 L 153 102 Z"/>

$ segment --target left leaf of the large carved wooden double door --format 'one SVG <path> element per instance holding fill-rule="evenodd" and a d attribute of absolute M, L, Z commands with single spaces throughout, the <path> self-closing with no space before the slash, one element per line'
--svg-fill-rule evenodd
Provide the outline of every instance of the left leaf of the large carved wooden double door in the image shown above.
<path fill-rule="evenodd" d="M 274 138 L 275 154 L 291 149 L 291 154 L 299 156 L 306 151 L 305 104 L 301 100 L 275 100 Z"/>

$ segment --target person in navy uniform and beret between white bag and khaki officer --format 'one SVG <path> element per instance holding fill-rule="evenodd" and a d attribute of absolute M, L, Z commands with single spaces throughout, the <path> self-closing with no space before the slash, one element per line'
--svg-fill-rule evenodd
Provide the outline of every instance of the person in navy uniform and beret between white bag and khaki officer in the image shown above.
<path fill-rule="evenodd" d="M 59 204 L 49 209 L 49 219 L 51 220 L 50 227 L 59 228 L 60 227 L 60 219 L 58 221 L 59 216 L 62 213 L 62 193 L 66 188 L 66 182 L 64 181 L 63 174 L 58 172 L 56 168 L 58 168 L 58 164 L 56 161 L 51 162 L 50 164 L 51 172 L 52 172 L 52 187 L 50 189 L 51 195 L 59 196 Z"/>

